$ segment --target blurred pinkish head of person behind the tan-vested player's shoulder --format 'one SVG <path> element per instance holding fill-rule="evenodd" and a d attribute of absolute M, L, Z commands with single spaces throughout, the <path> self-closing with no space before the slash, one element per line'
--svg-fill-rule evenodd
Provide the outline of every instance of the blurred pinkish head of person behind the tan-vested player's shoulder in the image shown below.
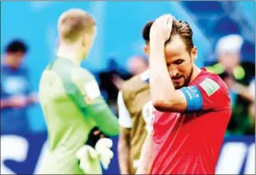
<path fill-rule="evenodd" d="M 147 60 L 141 56 L 133 56 L 128 60 L 128 71 L 132 75 L 142 74 L 148 68 Z"/>

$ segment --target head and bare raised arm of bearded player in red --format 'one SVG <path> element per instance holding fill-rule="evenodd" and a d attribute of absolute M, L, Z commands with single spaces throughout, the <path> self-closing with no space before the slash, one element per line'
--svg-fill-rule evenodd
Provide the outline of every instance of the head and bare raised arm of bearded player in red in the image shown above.
<path fill-rule="evenodd" d="M 192 30 L 170 14 L 156 19 L 150 30 L 150 90 L 153 106 L 162 112 L 185 112 L 186 95 L 178 90 L 190 83 L 200 69 L 194 66 L 197 48 Z M 200 101 L 192 101 L 198 104 Z M 198 109 L 198 107 L 192 107 Z"/>

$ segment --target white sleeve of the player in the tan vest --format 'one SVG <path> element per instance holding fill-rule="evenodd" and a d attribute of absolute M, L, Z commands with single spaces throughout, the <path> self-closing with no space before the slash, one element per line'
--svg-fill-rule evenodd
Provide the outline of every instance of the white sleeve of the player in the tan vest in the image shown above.
<path fill-rule="evenodd" d="M 117 98 L 118 109 L 119 109 L 119 124 L 121 127 L 131 129 L 132 127 L 132 120 L 131 115 L 125 106 L 125 102 L 123 99 L 123 94 L 120 91 Z"/>

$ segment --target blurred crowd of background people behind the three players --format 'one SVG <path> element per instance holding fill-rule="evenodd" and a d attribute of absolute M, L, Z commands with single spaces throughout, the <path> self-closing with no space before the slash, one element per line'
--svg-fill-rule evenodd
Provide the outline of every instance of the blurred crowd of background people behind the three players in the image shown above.
<path fill-rule="evenodd" d="M 255 134 L 255 62 L 243 62 L 247 43 L 242 36 L 223 36 L 217 42 L 214 63 L 205 67 L 224 79 L 230 90 L 232 116 L 227 134 Z M 1 59 L 1 132 L 29 132 L 28 109 L 36 104 L 31 89 L 30 72 L 23 64 L 28 52 L 25 41 L 14 40 L 5 47 Z M 118 114 L 117 96 L 123 81 L 148 68 L 147 57 L 129 58 L 127 69 L 109 57 L 109 67 L 95 73 L 109 106 Z M 246 60 L 254 60 L 251 57 Z M 220 99 L 221 101 L 221 99 Z"/>

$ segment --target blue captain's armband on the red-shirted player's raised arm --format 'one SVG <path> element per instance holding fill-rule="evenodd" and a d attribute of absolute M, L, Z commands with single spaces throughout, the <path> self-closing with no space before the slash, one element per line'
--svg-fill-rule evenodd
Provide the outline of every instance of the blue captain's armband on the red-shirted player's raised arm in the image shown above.
<path fill-rule="evenodd" d="M 181 88 L 181 91 L 186 96 L 188 112 L 198 111 L 203 107 L 203 96 L 197 86 L 189 86 Z"/>

